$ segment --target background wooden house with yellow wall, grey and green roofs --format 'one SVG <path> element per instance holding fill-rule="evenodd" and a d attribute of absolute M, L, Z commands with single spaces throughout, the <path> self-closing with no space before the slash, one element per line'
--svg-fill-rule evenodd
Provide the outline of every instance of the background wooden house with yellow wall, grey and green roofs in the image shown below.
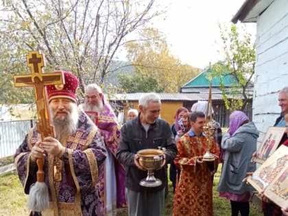
<path fill-rule="evenodd" d="M 187 82 L 187 84 L 184 84 L 180 93 L 159 93 L 158 95 L 160 96 L 162 104 L 160 117 L 172 124 L 174 122 L 176 110 L 181 106 L 191 110 L 191 106 L 197 101 L 207 101 L 210 84 L 207 76 L 208 73 L 211 73 L 209 69 L 204 70 Z M 233 80 L 232 76 L 227 75 L 223 80 L 226 88 L 230 88 L 235 84 L 235 80 Z M 230 110 L 227 110 L 224 105 L 219 82 L 219 77 L 212 78 L 213 110 L 215 113 L 215 120 L 218 121 L 222 127 L 228 127 Z M 123 113 L 123 122 L 125 122 L 128 109 L 138 108 L 138 101 L 142 94 L 144 93 L 116 94 L 110 97 L 110 104 L 113 107 L 118 107 Z M 241 95 L 239 95 L 239 97 L 241 97 Z M 250 91 L 249 97 L 250 100 L 245 107 L 244 112 L 252 119 L 252 91 Z"/>

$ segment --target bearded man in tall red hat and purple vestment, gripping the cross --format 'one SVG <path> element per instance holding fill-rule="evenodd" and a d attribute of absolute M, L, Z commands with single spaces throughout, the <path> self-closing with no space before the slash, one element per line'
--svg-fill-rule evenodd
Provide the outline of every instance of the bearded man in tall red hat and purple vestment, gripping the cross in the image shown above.
<path fill-rule="evenodd" d="M 63 71 L 65 84 L 47 86 L 56 137 L 42 137 L 33 128 L 16 150 L 14 163 L 25 193 L 36 182 L 36 159 L 44 158 L 49 209 L 33 215 L 99 215 L 96 183 L 106 158 L 97 127 L 77 108 L 77 77 Z"/>

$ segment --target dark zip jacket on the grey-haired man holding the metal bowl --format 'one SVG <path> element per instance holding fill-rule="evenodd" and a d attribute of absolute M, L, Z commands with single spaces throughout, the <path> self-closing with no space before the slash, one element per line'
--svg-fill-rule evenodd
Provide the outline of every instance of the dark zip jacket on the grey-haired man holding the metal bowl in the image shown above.
<path fill-rule="evenodd" d="M 158 187 L 147 188 L 139 185 L 139 182 L 146 178 L 147 171 L 138 169 L 134 164 L 134 156 L 139 150 L 157 149 L 158 146 L 166 148 L 166 163 L 171 163 L 176 157 L 177 147 L 170 125 L 163 119 L 157 119 L 155 123 L 149 125 L 147 132 L 141 125 L 139 116 L 122 126 L 116 156 L 117 160 L 125 165 L 125 187 L 137 192 L 158 191 L 165 187 L 166 166 L 154 171 L 155 178 L 159 178 L 162 184 Z"/>

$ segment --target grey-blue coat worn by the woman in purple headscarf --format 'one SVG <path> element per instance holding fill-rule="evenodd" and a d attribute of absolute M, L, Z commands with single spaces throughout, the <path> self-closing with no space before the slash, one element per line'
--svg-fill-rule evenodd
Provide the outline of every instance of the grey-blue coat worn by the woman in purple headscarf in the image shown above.
<path fill-rule="evenodd" d="M 217 188 L 219 192 L 242 194 L 253 190 L 242 180 L 246 173 L 256 169 L 251 158 L 256 151 L 258 137 L 259 131 L 253 122 L 242 125 L 232 136 L 228 132 L 224 134 L 221 148 L 225 150 L 225 157 Z"/>

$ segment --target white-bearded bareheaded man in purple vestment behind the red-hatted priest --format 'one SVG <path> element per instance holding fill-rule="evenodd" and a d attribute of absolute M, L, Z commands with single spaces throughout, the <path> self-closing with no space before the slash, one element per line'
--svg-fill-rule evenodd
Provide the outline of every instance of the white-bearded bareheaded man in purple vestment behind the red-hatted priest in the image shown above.
<path fill-rule="evenodd" d="M 104 101 L 104 95 L 97 84 L 86 86 L 84 104 L 80 104 L 80 107 L 93 119 L 104 136 L 108 156 L 104 166 L 105 172 L 99 177 L 98 187 L 104 215 L 116 215 L 117 207 L 126 206 L 125 171 L 116 160 L 120 125 L 112 108 Z"/>

